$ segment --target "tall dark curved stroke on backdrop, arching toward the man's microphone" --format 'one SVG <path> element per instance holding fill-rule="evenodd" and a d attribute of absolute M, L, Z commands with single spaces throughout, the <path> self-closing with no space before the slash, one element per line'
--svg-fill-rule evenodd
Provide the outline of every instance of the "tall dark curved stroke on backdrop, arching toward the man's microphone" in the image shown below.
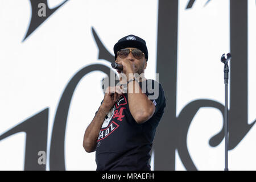
<path fill-rule="evenodd" d="M 49 155 L 49 164 L 51 170 L 65 170 L 64 144 L 69 105 L 76 86 L 81 78 L 93 71 L 102 71 L 106 73 L 109 78 L 110 74 L 115 75 L 115 73 L 109 67 L 102 64 L 93 64 L 82 68 L 68 82 L 68 85 L 60 98 L 52 129 L 51 149 Z"/>

